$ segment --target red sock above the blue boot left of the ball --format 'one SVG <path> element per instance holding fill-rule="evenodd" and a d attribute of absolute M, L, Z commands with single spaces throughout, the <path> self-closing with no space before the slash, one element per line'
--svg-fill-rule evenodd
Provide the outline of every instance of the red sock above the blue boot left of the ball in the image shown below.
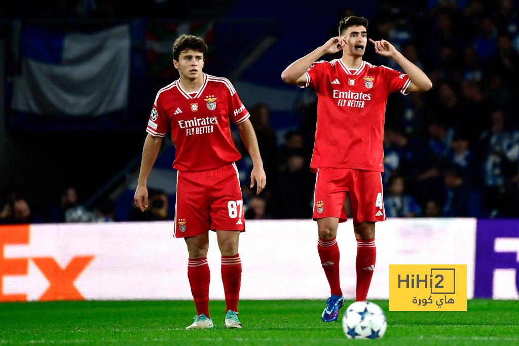
<path fill-rule="evenodd" d="M 317 252 L 321 258 L 321 266 L 326 274 L 326 279 L 330 284 L 330 293 L 332 295 L 342 296 L 343 291 L 340 289 L 339 280 L 339 246 L 336 238 L 322 240 L 319 238 L 317 243 Z"/>

